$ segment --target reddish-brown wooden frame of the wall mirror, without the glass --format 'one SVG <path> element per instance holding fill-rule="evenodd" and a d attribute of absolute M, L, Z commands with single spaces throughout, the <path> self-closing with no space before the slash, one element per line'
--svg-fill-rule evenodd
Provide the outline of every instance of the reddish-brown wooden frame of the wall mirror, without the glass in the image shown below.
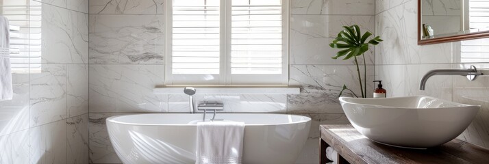
<path fill-rule="evenodd" d="M 473 40 L 479 38 L 489 38 L 489 30 L 421 40 L 421 0 L 418 0 L 418 45 L 455 42 L 460 40 Z"/>

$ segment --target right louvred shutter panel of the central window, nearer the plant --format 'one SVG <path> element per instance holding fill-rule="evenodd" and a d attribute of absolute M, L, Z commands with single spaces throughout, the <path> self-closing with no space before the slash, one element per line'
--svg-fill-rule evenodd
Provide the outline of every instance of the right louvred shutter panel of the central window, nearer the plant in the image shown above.
<path fill-rule="evenodd" d="M 233 0 L 231 15 L 231 74 L 281 74 L 281 1 Z"/>

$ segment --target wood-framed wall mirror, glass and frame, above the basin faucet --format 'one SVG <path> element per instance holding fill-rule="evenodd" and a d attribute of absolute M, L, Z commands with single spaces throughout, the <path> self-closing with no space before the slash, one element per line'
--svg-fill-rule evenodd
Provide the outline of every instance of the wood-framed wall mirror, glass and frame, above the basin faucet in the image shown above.
<path fill-rule="evenodd" d="M 489 38 L 489 0 L 418 0 L 418 44 Z"/>

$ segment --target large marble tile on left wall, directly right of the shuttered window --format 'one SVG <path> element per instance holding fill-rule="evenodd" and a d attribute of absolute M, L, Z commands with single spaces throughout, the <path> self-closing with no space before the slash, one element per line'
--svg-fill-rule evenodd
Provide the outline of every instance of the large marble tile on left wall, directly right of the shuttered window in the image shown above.
<path fill-rule="evenodd" d="M 42 64 L 88 64 L 88 14 L 46 4 L 41 8 Z"/>

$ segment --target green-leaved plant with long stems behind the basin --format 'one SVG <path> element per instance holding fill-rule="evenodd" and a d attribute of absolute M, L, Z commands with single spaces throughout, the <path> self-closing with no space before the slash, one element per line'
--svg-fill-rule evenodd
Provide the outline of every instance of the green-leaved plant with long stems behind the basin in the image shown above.
<path fill-rule="evenodd" d="M 353 59 L 355 65 L 357 66 L 358 72 L 358 82 L 360 83 L 360 92 L 362 93 L 362 98 L 366 98 L 366 64 L 364 53 L 368 51 L 371 45 L 375 46 L 382 42 L 379 36 L 375 36 L 373 39 L 368 40 L 373 35 L 371 32 L 366 31 L 365 33 L 360 32 L 360 27 L 358 25 L 343 26 L 343 31 L 338 33 L 338 36 L 329 44 L 331 48 L 342 49 L 336 53 L 333 59 L 338 59 L 340 57 L 343 60 Z M 360 75 L 360 67 L 358 66 L 358 57 L 363 57 L 364 61 L 364 82 L 362 83 L 362 76 Z M 353 94 L 353 96 L 358 97 L 355 92 L 350 90 L 347 85 L 343 85 L 342 90 L 338 96 L 341 96 L 343 92 L 347 90 Z"/>

